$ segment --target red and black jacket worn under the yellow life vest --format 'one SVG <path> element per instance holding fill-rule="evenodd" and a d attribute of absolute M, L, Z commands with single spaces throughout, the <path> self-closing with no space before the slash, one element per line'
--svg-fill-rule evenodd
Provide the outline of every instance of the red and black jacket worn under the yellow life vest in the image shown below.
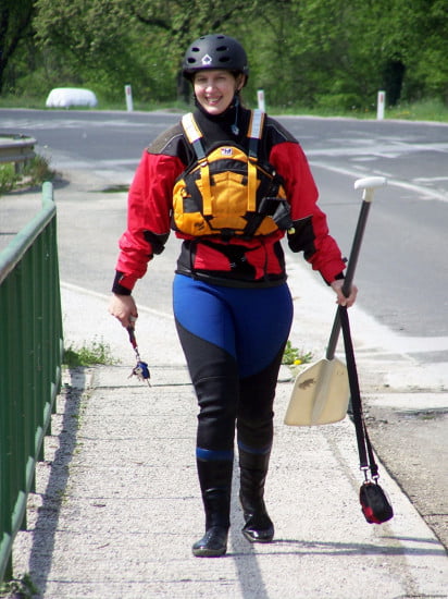
<path fill-rule="evenodd" d="M 196 110 L 206 149 L 216 143 L 246 147 L 250 111 L 232 107 L 211 117 Z M 318 190 L 298 142 L 274 119 L 266 118 L 259 150 L 284 181 L 294 222 L 287 233 L 293 252 L 303 252 L 327 283 L 341 277 L 345 262 L 328 234 L 326 217 L 318 207 Z M 176 179 L 196 161 L 181 123 L 159 136 L 144 151 L 128 195 L 127 230 L 120 240 L 113 291 L 129 294 L 154 254 L 163 250 L 171 231 L 172 196 Z M 286 280 L 281 245 L 284 231 L 252 239 L 192 237 L 183 240 L 176 272 L 233 286 L 272 286 Z"/>

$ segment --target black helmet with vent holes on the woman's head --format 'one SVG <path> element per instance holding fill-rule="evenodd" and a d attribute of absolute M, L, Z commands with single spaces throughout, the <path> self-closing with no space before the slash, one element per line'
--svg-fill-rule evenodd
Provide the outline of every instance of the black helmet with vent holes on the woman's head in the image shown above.
<path fill-rule="evenodd" d="M 249 75 L 247 56 L 242 46 L 222 34 L 204 35 L 196 39 L 185 52 L 182 64 L 184 77 L 190 80 L 197 71 L 204 69 L 225 69 Z"/>

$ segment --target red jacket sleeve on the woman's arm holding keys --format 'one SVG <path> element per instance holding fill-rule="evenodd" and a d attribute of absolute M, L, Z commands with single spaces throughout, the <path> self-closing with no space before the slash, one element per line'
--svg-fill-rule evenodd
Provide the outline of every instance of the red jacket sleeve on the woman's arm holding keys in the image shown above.
<path fill-rule="evenodd" d="M 148 151 L 141 157 L 129 188 L 127 230 L 120 239 L 116 264 L 123 273 L 120 283 L 129 290 L 146 273 L 148 261 L 160 253 L 151 237 L 166 241 L 170 234 L 174 182 L 184 170 L 177 157 Z"/>

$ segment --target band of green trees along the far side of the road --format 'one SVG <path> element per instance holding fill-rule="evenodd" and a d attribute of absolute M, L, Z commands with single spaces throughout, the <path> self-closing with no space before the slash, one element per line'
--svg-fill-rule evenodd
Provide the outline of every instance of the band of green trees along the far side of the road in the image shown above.
<path fill-rule="evenodd" d="M 91 84 L 114 99 L 130 83 L 136 98 L 172 101 L 185 90 L 187 46 L 224 33 L 248 52 L 252 100 L 262 87 L 285 108 L 369 108 L 378 89 L 389 103 L 448 101 L 446 0 L 0 1 L 0 85 L 13 56 L 10 81 L 14 68 L 22 88 Z M 27 50 L 33 42 L 41 53 Z"/>

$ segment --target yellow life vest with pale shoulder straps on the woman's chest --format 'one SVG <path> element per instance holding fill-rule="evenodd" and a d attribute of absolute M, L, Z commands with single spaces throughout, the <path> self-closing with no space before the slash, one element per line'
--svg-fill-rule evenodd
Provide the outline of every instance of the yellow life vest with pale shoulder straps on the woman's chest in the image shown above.
<path fill-rule="evenodd" d="M 251 113 L 249 151 L 237 144 L 221 144 L 207 154 L 192 113 L 183 117 L 197 162 L 174 185 L 174 230 L 194 236 L 250 239 L 290 227 L 282 178 L 271 164 L 260 164 L 257 157 L 264 117 L 260 110 Z"/>

